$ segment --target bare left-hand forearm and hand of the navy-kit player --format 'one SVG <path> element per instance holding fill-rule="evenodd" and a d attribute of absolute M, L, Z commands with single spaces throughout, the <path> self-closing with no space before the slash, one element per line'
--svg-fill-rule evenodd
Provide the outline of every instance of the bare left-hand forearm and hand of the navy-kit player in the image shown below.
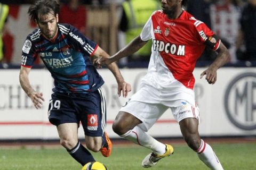
<path fill-rule="evenodd" d="M 33 102 L 36 109 L 39 109 L 43 105 L 43 93 L 42 92 L 36 92 L 31 86 L 29 82 L 29 72 L 30 68 L 21 66 L 20 68 L 20 85 L 22 89 L 26 92 L 26 94 L 30 97 L 31 101 Z"/>

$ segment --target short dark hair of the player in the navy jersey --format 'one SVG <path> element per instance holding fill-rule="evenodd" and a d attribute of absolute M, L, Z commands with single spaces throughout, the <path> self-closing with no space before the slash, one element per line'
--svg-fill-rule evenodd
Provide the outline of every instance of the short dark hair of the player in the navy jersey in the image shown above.
<path fill-rule="evenodd" d="M 56 16 L 60 12 L 60 4 L 58 4 L 55 0 L 38 0 L 33 5 L 31 5 L 28 9 L 28 15 L 31 21 L 38 22 L 38 14 L 46 15 L 46 14 L 54 14 Z"/>

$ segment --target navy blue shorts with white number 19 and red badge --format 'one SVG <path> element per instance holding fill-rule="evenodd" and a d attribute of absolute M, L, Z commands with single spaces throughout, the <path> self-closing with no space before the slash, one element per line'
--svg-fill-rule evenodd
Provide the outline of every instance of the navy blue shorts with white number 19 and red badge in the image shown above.
<path fill-rule="evenodd" d="M 82 123 L 84 134 L 101 137 L 106 129 L 106 101 L 101 88 L 89 94 L 52 94 L 49 121 L 53 125 Z"/>

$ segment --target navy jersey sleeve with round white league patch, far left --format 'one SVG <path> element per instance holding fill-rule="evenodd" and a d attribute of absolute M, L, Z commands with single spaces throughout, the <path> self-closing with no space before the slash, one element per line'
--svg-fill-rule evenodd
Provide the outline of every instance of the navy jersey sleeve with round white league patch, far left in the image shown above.
<path fill-rule="evenodd" d="M 34 61 L 36 60 L 37 52 L 35 50 L 35 45 L 30 39 L 30 35 L 26 38 L 22 47 L 22 58 L 21 66 L 31 68 Z"/>

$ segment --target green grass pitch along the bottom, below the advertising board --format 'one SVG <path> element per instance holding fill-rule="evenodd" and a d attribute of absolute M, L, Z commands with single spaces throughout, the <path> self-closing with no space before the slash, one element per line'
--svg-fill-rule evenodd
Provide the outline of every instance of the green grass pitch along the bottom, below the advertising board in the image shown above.
<path fill-rule="evenodd" d="M 256 169 L 256 143 L 211 144 L 224 169 Z M 207 167 L 198 159 L 196 153 L 186 145 L 174 144 L 174 154 L 160 160 L 151 170 L 186 169 L 203 170 Z M 104 163 L 109 170 L 139 170 L 142 159 L 149 150 L 135 145 L 114 145 L 109 158 L 93 153 L 95 159 Z M 55 147 L 0 147 L 1 170 L 79 170 L 79 165 L 64 148 Z"/>

